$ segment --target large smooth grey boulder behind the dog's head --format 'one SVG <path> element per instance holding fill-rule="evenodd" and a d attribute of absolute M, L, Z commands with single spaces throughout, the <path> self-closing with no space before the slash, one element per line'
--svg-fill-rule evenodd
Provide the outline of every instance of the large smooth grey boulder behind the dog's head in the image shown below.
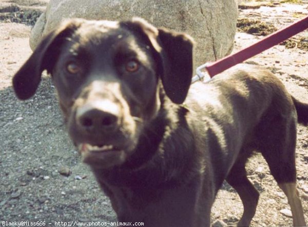
<path fill-rule="evenodd" d="M 236 0 L 50 0 L 30 36 L 33 50 L 41 37 L 64 18 L 127 20 L 140 16 L 158 27 L 182 31 L 194 37 L 195 64 L 229 54 L 236 32 Z"/>

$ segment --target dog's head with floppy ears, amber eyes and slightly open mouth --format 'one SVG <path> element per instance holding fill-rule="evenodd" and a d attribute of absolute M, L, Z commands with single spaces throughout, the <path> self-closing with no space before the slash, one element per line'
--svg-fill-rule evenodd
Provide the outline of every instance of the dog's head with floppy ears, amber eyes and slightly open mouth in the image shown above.
<path fill-rule="evenodd" d="M 94 167 L 120 165 L 159 110 L 158 84 L 184 102 L 192 76 L 192 40 L 140 18 L 73 19 L 49 33 L 14 75 L 18 98 L 51 75 L 73 142 Z"/>

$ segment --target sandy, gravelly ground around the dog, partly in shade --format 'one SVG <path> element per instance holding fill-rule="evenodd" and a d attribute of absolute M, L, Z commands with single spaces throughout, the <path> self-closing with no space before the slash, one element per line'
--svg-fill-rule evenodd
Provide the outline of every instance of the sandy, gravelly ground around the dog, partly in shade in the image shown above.
<path fill-rule="evenodd" d="M 0 8 L 4 2 L 0 2 Z M 303 1 L 240 10 L 239 17 L 258 18 L 281 28 L 307 14 L 308 3 Z M 2 221 L 45 221 L 48 226 L 54 226 L 57 221 L 115 221 L 108 198 L 69 141 L 48 76 L 44 76 L 32 99 L 22 102 L 14 96 L 12 76 L 31 54 L 29 32 L 30 27 L 26 25 L 0 21 L 0 226 Z M 261 37 L 237 33 L 235 50 Z M 308 39 L 307 31 L 299 37 Z M 272 70 L 295 97 L 308 102 L 307 56 L 306 51 L 298 48 L 276 46 L 249 61 Z M 297 178 L 306 221 L 307 135 L 308 128 L 299 126 Z M 70 174 L 63 176 L 59 171 Z M 292 225 L 292 218 L 281 213 L 290 209 L 286 197 L 269 174 L 263 158 L 258 155 L 252 158 L 247 173 L 260 192 L 252 225 Z M 213 221 L 231 223 L 241 217 L 242 211 L 238 195 L 225 184 L 213 207 Z"/>

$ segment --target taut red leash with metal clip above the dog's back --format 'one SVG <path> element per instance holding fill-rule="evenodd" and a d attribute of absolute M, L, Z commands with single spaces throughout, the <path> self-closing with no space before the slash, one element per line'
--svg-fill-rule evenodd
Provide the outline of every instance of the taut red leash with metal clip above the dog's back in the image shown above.
<path fill-rule="evenodd" d="M 305 30 L 308 28 L 308 16 L 303 18 L 302 20 L 295 22 L 294 24 L 280 29 L 276 32 L 274 32 L 271 35 L 266 36 L 264 39 L 260 40 L 259 42 L 242 49 L 232 55 L 226 56 L 223 59 L 220 59 L 213 63 L 206 63 L 197 69 L 197 80 L 202 79 L 203 76 L 201 76 L 199 73 L 201 72 L 201 69 L 205 68 L 209 74 L 209 77 L 212 78 L 214 75 L 223 72 L 224 70 L 235 66 L 236 64 L 239 64 L 252 56 L 255 56 L 259 53 L 261 53 L 264 50 L 267 50 L 284 40 L 289 39 L 293 35 Z M 202 72 L 201 72 L 202 73 Z M 192 79 L 192 83 L 195 82 L 194 78 Z"/>

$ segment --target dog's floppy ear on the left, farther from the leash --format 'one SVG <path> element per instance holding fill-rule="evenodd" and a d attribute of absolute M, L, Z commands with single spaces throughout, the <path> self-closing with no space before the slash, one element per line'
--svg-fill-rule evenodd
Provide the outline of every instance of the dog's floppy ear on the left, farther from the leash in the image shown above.
<path fill-rule="evenodd" d="M 29 99 L 35 93 L 41 81 L 42 72 L 47 69 L 50 73 L 59 53 L 61 42 L 76 30 L 82 20 L 70 20 L 62 23 L 58 29 L 50 32 L 38 44 L 26 63 L 13 77 L 13 88 L 19 99 Z"/>

